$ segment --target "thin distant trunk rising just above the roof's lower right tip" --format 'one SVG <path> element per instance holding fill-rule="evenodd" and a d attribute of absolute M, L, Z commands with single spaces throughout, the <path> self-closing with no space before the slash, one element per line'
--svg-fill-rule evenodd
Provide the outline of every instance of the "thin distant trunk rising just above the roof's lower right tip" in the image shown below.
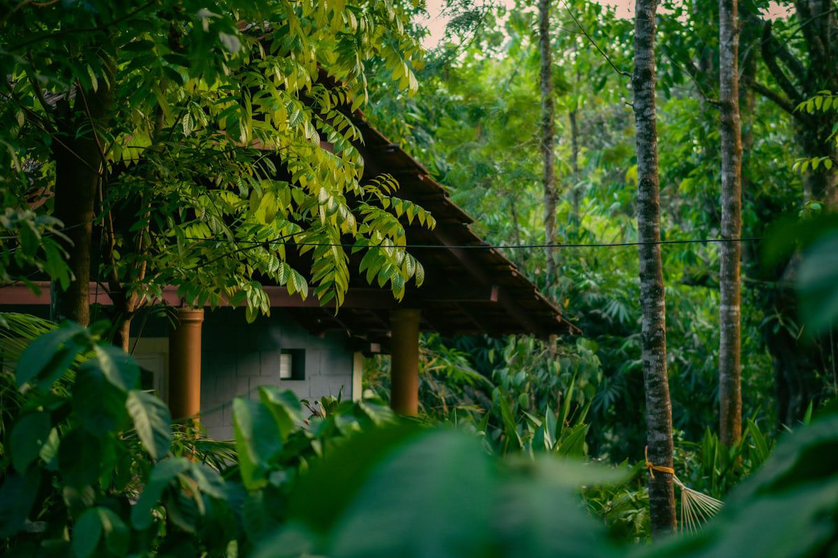
<path fill-rule="evenodd" d="M 546 244 L 556 243 L 556 170 L 554 136 L 556 135 L 555 107 L 553 106 L 553 69 L 550 42 L 550 0 L 538 2 L 538 32 L 541 46 L 541 156 L 544 169 L 544 232 Z M 546 248 L 547 283 L 556 279 L 556 248 Z"/>

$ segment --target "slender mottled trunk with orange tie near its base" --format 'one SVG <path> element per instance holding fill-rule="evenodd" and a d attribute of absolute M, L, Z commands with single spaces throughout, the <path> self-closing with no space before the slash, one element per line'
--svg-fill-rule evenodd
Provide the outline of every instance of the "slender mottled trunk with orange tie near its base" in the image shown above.
<path fill-rule="evenodd" d="M 666 374 L 666 312 L 660 260 L 658 130 L 654 103 L 654 13 L 657 0 L 634 6 L 634 120 L 637 128 L 637 226 L 640 252 L 641 342 L 649 461 L 672 467 L 672 404 Z M 675 530 L 672 475 L 649 475 L 652 533 Z"/>

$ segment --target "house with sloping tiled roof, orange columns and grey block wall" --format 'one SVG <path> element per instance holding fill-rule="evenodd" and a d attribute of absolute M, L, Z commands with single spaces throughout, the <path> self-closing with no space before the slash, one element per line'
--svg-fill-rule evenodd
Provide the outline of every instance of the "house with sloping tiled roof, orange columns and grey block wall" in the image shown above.
<path fill-rule="evenodd" d="M 353 118 L 364 140 L 357 148 L 365 178 L 390 174 L 401 185 L 400 197 L 437 220 L 431 231 L 406 225 L 408 249 L 425 269 L 424 284 L 409 287 L 399 303 L 390 292 L 367 286 L 355 271 L 337 315 L 317 299 L 302 300 L 268 286 L 271 315 L 252 324 L 233 308 L 178 308 L 176 327 L 162 318 L 134 320 L 141 321 L 133 324 L 132 334 L 139 337 L 134 356 L 152 372 L 153 387 L 173 417 L 200 412 L 210 436 L 231 438 L 231 400 L 255 397 L 261 385 L 278 385 L 301 398 L 341 393 L 357 399 L 362 358 L 375 352 L 392 356 L 391 407 L 416 414 L 420 331 L 547 337 L 575 329 L 509 259 L 471 231 L 472 219 L 427 170 L 360 112 Z M 357 260 L 349 267 L 357 270 Z M 37 296 L 23 285 L 0 289 L 0 310 L 45 315 L 49 284 L 44 287 Z M 180 304 L 174 289 L 163 299 Z M 91 285 L 93 302 L 110 302 L 96 285 Z"/>

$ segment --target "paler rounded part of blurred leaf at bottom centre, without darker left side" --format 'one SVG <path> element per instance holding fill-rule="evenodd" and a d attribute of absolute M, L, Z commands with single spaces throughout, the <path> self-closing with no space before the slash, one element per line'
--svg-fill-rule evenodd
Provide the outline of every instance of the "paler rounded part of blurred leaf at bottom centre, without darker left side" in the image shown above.
<path fill-rule="evenodd" d="M 373 469 L 339 520 L 329 554 L 485 555 L 496 489 L 489 458 L 473 438 L 423 434 Z"/>

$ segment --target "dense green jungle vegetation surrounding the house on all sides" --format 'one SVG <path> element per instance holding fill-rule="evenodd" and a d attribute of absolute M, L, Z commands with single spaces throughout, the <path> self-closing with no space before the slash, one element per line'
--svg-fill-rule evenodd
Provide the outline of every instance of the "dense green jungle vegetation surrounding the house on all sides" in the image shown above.
<path fill-rule="evenodd" d="M 53 296 L 0 312 L 4 554 L 835 555 L 834 0 L 439 10 L 0 0 L 0 289 Z M 434 217 L 362 180 L 354 110 L 577 330 L 423 335 L 419 417 L 375 356 L 206 438 L 129 354 L 163 289 L 422 284 Z"/>

